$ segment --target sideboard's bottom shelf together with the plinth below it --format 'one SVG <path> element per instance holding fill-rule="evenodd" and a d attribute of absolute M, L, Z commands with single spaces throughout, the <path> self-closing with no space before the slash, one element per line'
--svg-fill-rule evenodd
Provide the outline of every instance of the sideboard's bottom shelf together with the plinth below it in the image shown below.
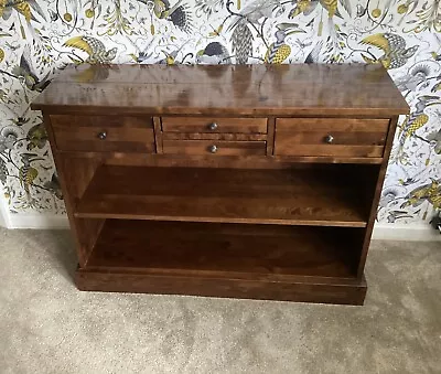
<path fill-rule="evenodd" d="M 107 220 L 83 290 L 363 303 L 363 228 Z"/>

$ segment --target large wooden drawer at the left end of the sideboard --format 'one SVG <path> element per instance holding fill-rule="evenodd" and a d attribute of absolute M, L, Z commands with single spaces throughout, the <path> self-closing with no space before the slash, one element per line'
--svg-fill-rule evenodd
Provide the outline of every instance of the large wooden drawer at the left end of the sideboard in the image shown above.
<path fill-rule="evenodd" d="M 66 151 L 154 152 L 151 117 L 51 116 L 56 147 Z"/>

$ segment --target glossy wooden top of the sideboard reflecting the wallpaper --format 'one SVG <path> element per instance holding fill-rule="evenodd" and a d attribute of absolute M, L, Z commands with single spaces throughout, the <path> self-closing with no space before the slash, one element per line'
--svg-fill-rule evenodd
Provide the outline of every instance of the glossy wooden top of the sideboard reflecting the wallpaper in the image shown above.
<path fill-rule="evenodd" d="M 404 115 L 380 65 L 69 65 L 34 100 L 46 113 Z"/>

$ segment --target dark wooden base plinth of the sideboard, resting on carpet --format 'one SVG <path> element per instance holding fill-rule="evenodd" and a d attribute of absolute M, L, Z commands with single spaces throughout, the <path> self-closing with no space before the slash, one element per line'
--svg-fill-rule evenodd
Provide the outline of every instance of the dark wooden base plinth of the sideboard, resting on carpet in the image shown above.
<path fill-rule="evenodd" d="M 333 278 L 334 279 L 334 278 Z M 148 273 L 77 269 L 75 285 L 83 291 L 193 295 L 216 298 L 282 300 L 363 306 L 366 280 L 333 282 L 265 281 L 255 279 L 170 276 Z"/>

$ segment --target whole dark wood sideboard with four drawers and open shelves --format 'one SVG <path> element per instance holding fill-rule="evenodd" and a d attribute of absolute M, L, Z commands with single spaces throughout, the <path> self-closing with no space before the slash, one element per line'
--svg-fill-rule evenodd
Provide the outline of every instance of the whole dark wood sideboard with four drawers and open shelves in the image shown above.
<path fill-rule="evenodd" d="M 68 66 L 32 108 L 80 290 L 364 302 L 409 110 L 383 67 Z"/>

